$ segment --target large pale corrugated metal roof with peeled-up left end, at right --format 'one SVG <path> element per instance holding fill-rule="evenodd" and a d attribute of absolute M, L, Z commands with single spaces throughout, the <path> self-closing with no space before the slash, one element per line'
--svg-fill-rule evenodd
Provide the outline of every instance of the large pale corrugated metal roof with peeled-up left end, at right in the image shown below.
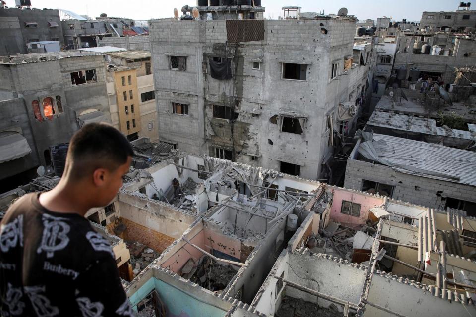
<path fill-rule="evenodd" d="M 476 186 L 476 152 L 384 134 L 371 143 L 375 158 L 400 172 Z"/>

